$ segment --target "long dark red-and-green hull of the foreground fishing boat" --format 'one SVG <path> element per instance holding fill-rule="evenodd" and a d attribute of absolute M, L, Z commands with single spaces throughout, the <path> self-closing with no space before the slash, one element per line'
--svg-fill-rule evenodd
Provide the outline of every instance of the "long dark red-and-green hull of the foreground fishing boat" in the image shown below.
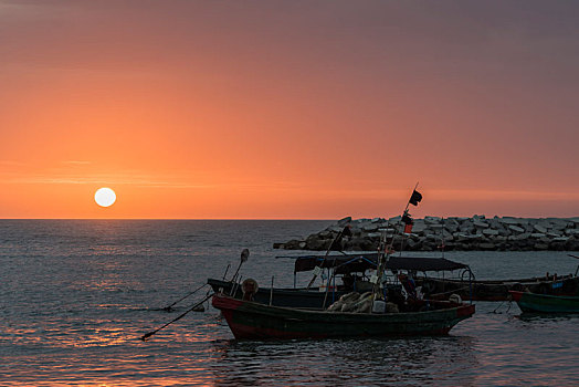
<path fill-rule="evenodd" d="M 444 335 L 471 317 L 474 305 L 415 301 L 400 313 L 350 313 L 270 306 L 214 294 L 238 339 Z"/>

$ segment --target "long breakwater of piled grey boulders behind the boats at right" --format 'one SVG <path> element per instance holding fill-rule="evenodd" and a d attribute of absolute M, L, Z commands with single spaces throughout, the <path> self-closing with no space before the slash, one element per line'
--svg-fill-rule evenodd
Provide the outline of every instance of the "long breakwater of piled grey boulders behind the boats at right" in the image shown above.
<path fill-rule="evenodd" d="M 333 250 L 372 251 L 383 234 L 393 248 L 404 251 L 486 250 L 579 251 L 579 217 L 576 218 L 486 218 L 424 217 L 414 219 L 412 232 L 403 234 L 400 217 L 351 219 L 347 217 L 304 240 L 274 243 L 274 249 L 326 251 L 340 230 L 349 224 L 351 236 L 334 243 Z"/>

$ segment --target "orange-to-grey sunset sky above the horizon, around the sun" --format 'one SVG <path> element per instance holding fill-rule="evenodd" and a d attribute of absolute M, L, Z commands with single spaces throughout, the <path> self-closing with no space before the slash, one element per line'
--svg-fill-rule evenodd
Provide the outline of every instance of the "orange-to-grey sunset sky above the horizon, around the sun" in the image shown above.
<path fill-rule="evenodd" d="M 0 218 L 579 216 L 579 2 L 0 0 Z M 117 201 L 98 207 L 101 187 Z"/>

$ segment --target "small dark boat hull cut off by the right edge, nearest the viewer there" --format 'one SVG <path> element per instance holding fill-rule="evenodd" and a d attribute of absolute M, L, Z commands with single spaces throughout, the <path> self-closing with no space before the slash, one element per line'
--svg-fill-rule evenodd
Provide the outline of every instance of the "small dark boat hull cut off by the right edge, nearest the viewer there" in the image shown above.
<path fill-rule="evenodd" d="M 536 294 L 510 291 L 513 300 L 523 312 L 579 313 L 579 296 Z"/>

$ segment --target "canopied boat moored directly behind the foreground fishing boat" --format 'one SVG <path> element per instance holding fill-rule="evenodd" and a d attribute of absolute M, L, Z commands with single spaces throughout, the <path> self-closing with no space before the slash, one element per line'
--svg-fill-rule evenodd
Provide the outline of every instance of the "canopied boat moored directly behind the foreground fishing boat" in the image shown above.
<path fill-rule="evenodd" d="M 370 272 L 377 269 L 378 253 L 292 258 L 295 259 L 294 287 L 259 287 L 253 296 L 254 302 L 274 306 L 322 310 L 347 293 L 364 293 L 372 290 Z M 316 268 L 319 268 L 318 271 L 327 271 L 325 278 L 330 279 L 329 287 L 327 287 L 328 281 L 323 282 L 322 286 L 295 287 L 297 273 L 315 272 Z M 390 257 L 386 268 L 393 271 L 432 272 L 465 269 L 467 265 L 443 258 Z M 215 293 L 229 294 L 234 299 L 243 296 L 241 285 L 235 282 L 209 279 L 208 284 Z M 402 283 L 399 281 L 387 283 L 386 290 L 401 292 Z"/>

